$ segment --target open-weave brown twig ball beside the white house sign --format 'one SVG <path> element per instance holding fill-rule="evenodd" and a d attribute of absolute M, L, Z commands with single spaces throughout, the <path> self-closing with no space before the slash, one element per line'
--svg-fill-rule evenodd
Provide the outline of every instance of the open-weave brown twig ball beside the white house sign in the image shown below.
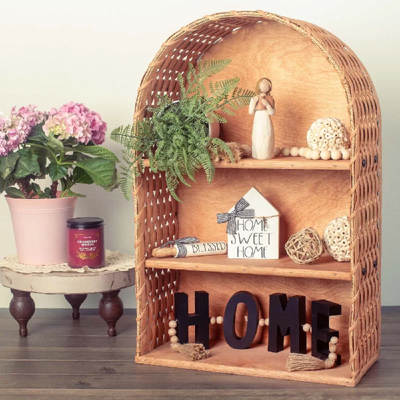
<path fill-rule="evenodd" d="M 284 248 L 296 264 L 311 264 L 322 254 L 323 245 L 314 228 L 303 228 L 292 234 Z"/>

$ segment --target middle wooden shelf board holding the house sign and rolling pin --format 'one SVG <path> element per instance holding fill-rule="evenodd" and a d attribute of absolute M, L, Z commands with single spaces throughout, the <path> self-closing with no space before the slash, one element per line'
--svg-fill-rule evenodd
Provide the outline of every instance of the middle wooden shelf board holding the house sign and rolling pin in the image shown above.
<path fill-rule="evenodd" d="M 228 258 L 226 254 L 184 258 L 151 257 L 146 259 L 145 266 L 193 271 L 350 280 L 350 263 L 339 262 L 332 257 L 321 257 L 314 264 L 308 265 L 298 265 L 287 255 L 279 259 Z"/>

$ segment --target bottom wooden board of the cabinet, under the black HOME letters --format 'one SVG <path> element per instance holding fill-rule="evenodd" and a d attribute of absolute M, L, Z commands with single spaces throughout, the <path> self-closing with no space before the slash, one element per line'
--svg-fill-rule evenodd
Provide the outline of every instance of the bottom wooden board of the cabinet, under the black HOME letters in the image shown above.
<path fill-rule="evenodd" d="M 288 347 L 278 353 L 272 353 L 267 351 L 266 344 L 257 343 L 245 350 L 236 350 L 229 347 L 224 340 L 219 340 L 210 341 L 210 353 L 211 356 L 204 360 L 189 361 L 173 351 L 168 342 L 142 356 L 136 356 L 135 361 L 141 364 L 344 386 L 355 386 L 357 383 L 357 380 L 351 377 L 348 354 L 341 354 L 342 363 L 331 369 L 288 372 L 286 370 Z"/>

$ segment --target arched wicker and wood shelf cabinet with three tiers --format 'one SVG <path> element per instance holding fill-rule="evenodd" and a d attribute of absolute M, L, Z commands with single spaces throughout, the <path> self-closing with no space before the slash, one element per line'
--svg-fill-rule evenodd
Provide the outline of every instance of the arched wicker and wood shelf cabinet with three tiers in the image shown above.
<path fill-rule="evenodd" d="M 380 344 L 381 127 L 372 81 L 350 48 L 318 26 L 264 11 L 217 13 L 189 23 L 162 44 L 142 78 L 134 119 L 147 115 L 146 108 L 158 93 L 177 98 L 176 75 L 200 57 L 233 58 L 218 80 L 238 76 L 241 86 L 253 88 L 260 77 L 271 79 L 276 145 L 305 146 L 310 124 L 332 116 L 350 132 L 351 157 L 349 161 L 278 157 L 242 159 L 234 165 L 219 162 L 211 184 L 198 176 L 192 187 L 179 188 L 182 203 L 170 197 L 162 173 L 145 168 L 133 187 L 135 360 L 354 386 L 379 356 Z M 239 110 L 222 126 L 221 138 L 250 144 L 251 126 L 247 110 Z M 228 259 L 226 255 L 151 258 L 152 248 L 177 237 L 225 240 L 225 226 L 216 224 L 215 214 L 228 210 L 251 186 L 281 213 L 278 260 Z M 343 215 L 350 220 L 350 262 L 322 258 L 299 266 L 286 256 L 284 243 L 290 234 L 304 226 L 322 233 L 331 219 Z M 287 372 L 287 345 L 279 353 L 268 352 L 266 329 L 258 329 L 251 348 L 234 350 L 223 340 L 219 325 L 210 327 L 211 357 L 185 361 L 168 344 L 168 321 L 173 318 L 177 290 L 188 293 L 192 309 L 194 291 L 208 291 L 210 315 L 223 314 L 237 290 L 252 292 L 264 316 L 269 294 L 274 292 L 305 295 L 308 320 L 311 300 L 340 303 L 342 314 L 330 317 L 330 326 L 339 331 L 341 365 Z M 244 307 L 237 308 L 237 334 L 244 329 L 244 322 L 240 323 L 244 313 Z"/>

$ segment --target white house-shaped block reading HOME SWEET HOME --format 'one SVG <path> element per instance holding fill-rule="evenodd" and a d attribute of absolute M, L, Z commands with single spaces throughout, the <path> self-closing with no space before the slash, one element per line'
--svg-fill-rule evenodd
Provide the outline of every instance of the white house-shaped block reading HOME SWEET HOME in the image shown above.
<path fill-rule="evenodd" d="M 279 258 L 279 211 L 252 187 L 243 198 L 254 218 L 236 217 L 236 233 L 228 234 L 228 258 Z M 232 212 L 234 206 L 229 210 Z"/>

